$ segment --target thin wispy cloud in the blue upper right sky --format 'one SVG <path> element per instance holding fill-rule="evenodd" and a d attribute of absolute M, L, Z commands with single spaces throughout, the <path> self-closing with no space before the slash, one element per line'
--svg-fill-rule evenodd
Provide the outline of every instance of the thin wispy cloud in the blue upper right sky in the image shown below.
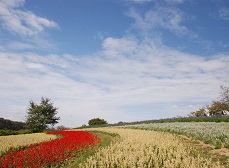
<path fill-rule="evenodd" d="M 140 38 L 153 38 L 154 41 L 157 39 L 158 43 L 163 44 L 167 39 L 166 35 L 170 32 L 179 40 L 185 39 L 201 47 L 206 53 L 214 50 L 212 41 L 203 39 L 197 32 L 185 26 L 188 19 L 194 18 L 175 6 L 159 5 L 145 12 L 130 8 L 127 16 L 134 20 L 130 31 L 137 30 L 136 32 L 140 32 Z M 188 46 L 181 46 L 181 48 L 183 47 Z"/>

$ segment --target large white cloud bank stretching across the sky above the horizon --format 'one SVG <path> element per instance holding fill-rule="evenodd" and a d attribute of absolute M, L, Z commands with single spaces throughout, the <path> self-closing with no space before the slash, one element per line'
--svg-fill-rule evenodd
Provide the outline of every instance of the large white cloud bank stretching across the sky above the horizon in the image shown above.
<path fill-rule="evenodd" d="M 93 117 L 184 116 L 229 82 L 228 55 L 206 59 L 135 38 L 107 38 L 88 57 L 2 52 L 0 62 L 2 116 L 23 118 L 30 99 L 47 96 L 59 107 L 60 124 L 72 127 Z"/>

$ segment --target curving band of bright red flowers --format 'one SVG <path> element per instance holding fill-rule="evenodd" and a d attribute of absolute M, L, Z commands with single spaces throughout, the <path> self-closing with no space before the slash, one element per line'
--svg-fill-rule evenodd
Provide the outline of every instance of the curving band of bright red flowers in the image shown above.
<path fill-rule="evenodd" d="M 53 131 L 61 138 L 8 151 L 0 157 L 0 167 L 58 167 L 83 149 L 100 143 L 98 136 L 85 131 Z"/>

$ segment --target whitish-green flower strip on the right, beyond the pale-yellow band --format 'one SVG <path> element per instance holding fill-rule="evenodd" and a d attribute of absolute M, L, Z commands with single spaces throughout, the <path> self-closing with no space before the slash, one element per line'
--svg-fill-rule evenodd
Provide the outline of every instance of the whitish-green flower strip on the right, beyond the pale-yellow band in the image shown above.
<path fill-rule="evenodd" d="M 228 122 L 172 122 L 149 123 L 120 126 L 122 128 L 134 128 L 156 131 L 168 131 L 183 134 L 191 138 L 210 143 L 215 148 L 229 148 L 229 123 Z"/>

